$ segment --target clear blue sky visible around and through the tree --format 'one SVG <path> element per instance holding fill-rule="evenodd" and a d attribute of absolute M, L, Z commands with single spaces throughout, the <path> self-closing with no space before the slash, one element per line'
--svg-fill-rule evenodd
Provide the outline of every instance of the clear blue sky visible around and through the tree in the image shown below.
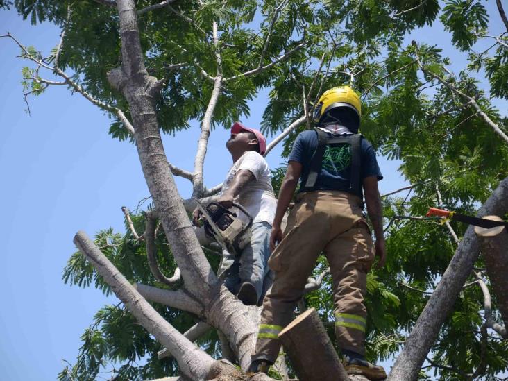
<path fill-rule="evenodd" d="M 493 27 L 499 29 L 500 21 L 493 19 Z M 0 12 L 0 33 L 6 31 L 44 53 L 57 44 L 60 33 L 49 24 L 31 26 L 12 10 Z M 419 41 L 449 46 L 448 38 L 439 24 L 418 35 Z M 134 209 L 149 192 L 135 147 L 112 139 L 108 117 L 80 94 L 50 88 L 29 100 L 31 116 L 26 114 L 20 85 L 26 64 L 16 58 L 19 49 L 12 41 L 0 39 L 0 49 L 1 378 L 54 380 L 62 359 L 74 362 L 79 337 L 94 313 L 116 300 L 62 282 L 62 269 L 76 250 L 74 234 L 85 230 L 92 236 L 110 226 L 123 231 L 121 206 Z M 266 92 L 251 103 L 251 117 L 244 123 L 258 126 L 265 104 Z M 176 137 L 164 137 L 169 161 L 192 169 L 198 135 L 198 125 L 193 124 Z M 223 128 L 210 137 L 205 162 L 208 187 L 220 183 L 231 164 L 224 147 L 227 137 Z M 280 147 L 267 159 L 271 167 L 280 164 Z M 404 185 L 396 173 L 398 163 L 380 160 L 380 166 L 385 176 L 382 193 Z M 180 194 L 189 196 L 188 181 L 177 178 L 177 184 Z"/>

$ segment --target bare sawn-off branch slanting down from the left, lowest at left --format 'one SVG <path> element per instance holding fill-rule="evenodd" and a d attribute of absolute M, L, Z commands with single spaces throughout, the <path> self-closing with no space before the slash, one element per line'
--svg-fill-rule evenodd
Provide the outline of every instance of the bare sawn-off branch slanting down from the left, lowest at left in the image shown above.
<path fill-rule="evenodd" d="M 171 352 L 178 361 L 180 371 L 189 377 L 204 379 L 212 368 L 214 359 L 164 320 L 101 253 L 85 232 L 76 233 L 74 244 L 110 285 L 117 297 L 124 302 L 137 321 Z"/>

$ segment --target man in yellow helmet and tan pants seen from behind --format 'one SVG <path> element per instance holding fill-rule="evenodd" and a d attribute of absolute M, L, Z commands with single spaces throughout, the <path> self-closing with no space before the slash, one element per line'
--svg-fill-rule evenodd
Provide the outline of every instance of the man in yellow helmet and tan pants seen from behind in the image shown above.
<path fill-rule="evenodd" d="M 333 87 L 316 105 L 316 128 L 296 137 L 280 187 L 271 230 L 269 266 L 273 286 L 264 298 L 251 372 L 267 371 L 280 349 L 278 333 L 293 319 L 307 277 L 324 253 L 335 300 L 335 339 L 346 371 L 370 380 L 386 378 L 365 355 L 367 272 L 375 256 L 386 260 L 378 180 L 382 174 L 371 144 L 358 134 L 362 108 L 349 86 Z M 297 203 L 280 228 L 300 180 Z M 363 195 L 376 241 L 362 214 Z"/>

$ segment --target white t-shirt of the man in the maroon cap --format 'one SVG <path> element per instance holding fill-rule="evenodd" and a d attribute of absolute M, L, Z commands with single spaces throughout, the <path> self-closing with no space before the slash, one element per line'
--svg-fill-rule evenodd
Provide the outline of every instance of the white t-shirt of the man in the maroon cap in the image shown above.
<path fill-rule="evenodd" d="M 273 187 L 271 186 L 271 175 L 268 163 L 262 155 L 256 151 L 247 151 L 235 163 L 232 164 L 231 169 L 228 171 L 226 180 L 222 183 L 222 192 L 230 186 L 237 171 L 240 169 L 247 169 L 253 173 L 255 180 L 247 183 L 238 196 L 235 197 L 235 203 L 242 205 L 253 218 L 253 222 L 266 221 L 273 222 L 275 217 L 277 201 L 273 194 Z M 238 212 L 242 220 L 244 213 Z"/>

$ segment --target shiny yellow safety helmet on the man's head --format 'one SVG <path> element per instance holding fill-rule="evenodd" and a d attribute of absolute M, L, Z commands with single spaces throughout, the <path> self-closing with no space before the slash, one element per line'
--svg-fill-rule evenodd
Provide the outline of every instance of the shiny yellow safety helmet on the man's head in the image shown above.
<path fill-rule="evenodd" d="M 319 123 L 323 115 L 334 108 L 347 107 L 355 110 L 358 118 L 362 116 L 362 104 L 359 96 L 349 86 L 332 87 L 326 90 L 314 108 L 314 121 Z"/>

